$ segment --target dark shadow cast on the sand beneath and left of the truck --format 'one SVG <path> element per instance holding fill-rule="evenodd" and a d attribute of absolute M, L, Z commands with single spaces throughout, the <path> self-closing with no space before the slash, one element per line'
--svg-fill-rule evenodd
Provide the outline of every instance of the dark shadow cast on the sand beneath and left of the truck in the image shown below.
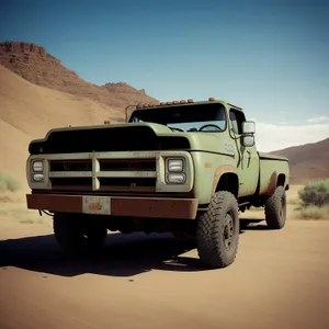
<path fill-rule="evenodd" d="M 253 229 L 245 228 L 241 230 Z M 133 276 L 151 270 L 205 271 L 197 256 L 183 256 L 195 249 L 194 239 L 177 239 L 170 234 L 110 234 L 104 250 L 94 256 L 72 258 L 58 247 L 54 235 L 0 241 L 0 268 L 15 266 L 60 276 L 91 273 Z"/>

